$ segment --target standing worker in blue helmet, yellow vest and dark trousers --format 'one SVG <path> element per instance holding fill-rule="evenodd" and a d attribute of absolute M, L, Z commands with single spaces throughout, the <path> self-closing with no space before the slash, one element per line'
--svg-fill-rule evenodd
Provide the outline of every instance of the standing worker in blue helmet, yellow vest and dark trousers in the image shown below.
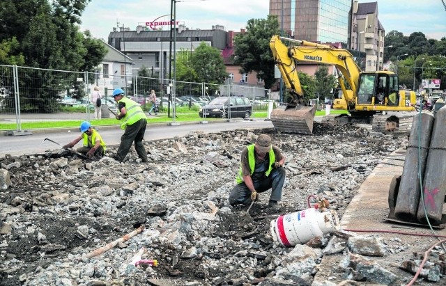
<path fill-rule="evenodd" d="M 142 143 L 147 125 L 146 114 L 144 114 L 137 102 L 124 97 L 124 91 L 121 88 L 113 90 L 113 98 L 115 102 L 118 102 L 116 119 L 123 119 L 121 129 L 125 130 L 123 136 L 121 136 L 121 144 L 114 159 L 122 162 L 134 141 L 134 149 L 137 151 L 138 157 L 143 162 L 148 161 L 147 152 Z"/>

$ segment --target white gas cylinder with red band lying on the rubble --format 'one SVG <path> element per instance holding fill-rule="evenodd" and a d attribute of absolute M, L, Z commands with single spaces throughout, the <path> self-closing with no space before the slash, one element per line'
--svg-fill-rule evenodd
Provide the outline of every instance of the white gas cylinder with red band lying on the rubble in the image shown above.
<path fill-rule="evenodd" d="M 286 247 L 305 244 L 314 237 L 322 237 L 339 230 L 339 218 L 334 210 L 304 209 L 284 214 L 270 223 L 275 244 Z"/>

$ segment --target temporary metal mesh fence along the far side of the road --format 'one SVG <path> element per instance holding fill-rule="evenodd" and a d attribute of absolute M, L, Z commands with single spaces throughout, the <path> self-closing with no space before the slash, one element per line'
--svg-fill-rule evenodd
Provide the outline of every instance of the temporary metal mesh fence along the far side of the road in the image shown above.
<path fill-rule="evenodd" d="M 201 104 L 206 104 L 214 97 L 235 95 L 252 100 L 255 112 L 254 102 L 268 100 L 270 95 L 269 90 L 247 84 L 207 84 L 0 65 L 0 123 L 15 121 L 17 131 L 20 131 L 23 120 L 91 120 L 94 118 L 91 94 L 95 86 L 98 86 L 103 99 L 102 118 L 114 117 L 109 112 L 111 106 L 116 109 L 112 97 L 114 88 L 122 88 L 126 96 L 143 106 L 148 103 L 151 90 L 155 90 L 161 100 L 161 108 L 170 103 L 174 112 L 179 102 L 187 102 L 187 99 L 191 102 L 192 98 L 199 98 Z M 70 107 L 76 107 L 77 112 Z"/>

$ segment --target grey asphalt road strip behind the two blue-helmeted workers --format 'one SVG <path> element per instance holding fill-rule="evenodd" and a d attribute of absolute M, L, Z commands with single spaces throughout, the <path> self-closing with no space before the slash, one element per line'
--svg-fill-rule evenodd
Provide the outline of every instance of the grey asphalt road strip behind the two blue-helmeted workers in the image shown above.
<path fill-rule="evenodd" d="M 185 136 L 190 132 L 222 132 L 227 130 L 234 130 L 238 128 L 244 129 L 261 129 L 272 128 L 272 123 L 265 120 L 231 120 L 231 122 L 209 122 L 208 124 L 187 124 L 180 123 L 178 126 L 169 125 L 147 125 L 146 141 L 155 141 L 167 138 L 173 138 L 174 136 Z M 118 145 L 121 142 L 121 135 L 123 130 L 119 127 L 98 127 L 102 138 L 107 145 Z M 36 154 L 42 153 L 47 150 L 55 150 L 61 148 L 59 145 L 50 141 L 45 141 L 45 138 L 49 138 L 61 145 L 70 143 L 74 138 L 79 136 L 79 132 L 69 129 L 63 129 L 59 132 L 48 131 L 33 131 L 32 135 L 26 136 L 2 136 L 0 137 L 0 157 L 5 157 L 6 154 L 12 156 L 18 156 L 22 154 Z M 78 143 L 76 146 L 81 146 Z"/>

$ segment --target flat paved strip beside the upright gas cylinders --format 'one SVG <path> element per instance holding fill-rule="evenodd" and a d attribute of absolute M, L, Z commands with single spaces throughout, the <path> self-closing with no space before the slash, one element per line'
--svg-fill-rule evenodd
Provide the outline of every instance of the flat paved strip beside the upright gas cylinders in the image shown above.
<path fill-rule="evenodd" d="M 394 175 L 403 173 L 404 159 L 406 158 L 406 149 L 400 148 L 393 152 L 382 163 L 378 164 L 367 179 L 361 184 L 357 194 L 351 200 L 346 212 L 340 221 L 341 229 L 351 230 L 370 230 L 370 232 L 355 232 L 357 235 L 378 235 L 382 237 L 385 243 L 398 244 L 401 251 L 387 254 L 385 257 L 369 257 L 368 260 L 376 262 L 388 271 L 398 273 L 399 276 L 413 275 L 404 272 L 396 267 L 404 260 L 413 258 L 413 253 L 424 253 L 429 246 L 438 239 L 434 237 L 420 237 L 415 235 L 401 235 L 395 232 L 423 233 L 431 235 L 428 227 L 418 227 L 415 225 L 399 224 L 392 221 L 386 221 L 389 214 L 388 193 L 390 182 Z M 378 232 L 378 230 L 392 231 L 393 233 Z M 435 229 L 437 235 L 446 235 L 446 229 Z M 400 241 L 400 242 L 398 242 Z M 344 258 L 342 253 L 335 255 L 324 255 L 319 264 L 318 273 L 314 277 L 316 281 L 330 280 L 333 275 L 334 267 L 339 266 L 339 262 Z M 332 280 L 332 282 L 335 282 Z M 367 285 L 371 285 L 369 283 Z M 362 284 L 361 284 L 362 285 Z"/>

